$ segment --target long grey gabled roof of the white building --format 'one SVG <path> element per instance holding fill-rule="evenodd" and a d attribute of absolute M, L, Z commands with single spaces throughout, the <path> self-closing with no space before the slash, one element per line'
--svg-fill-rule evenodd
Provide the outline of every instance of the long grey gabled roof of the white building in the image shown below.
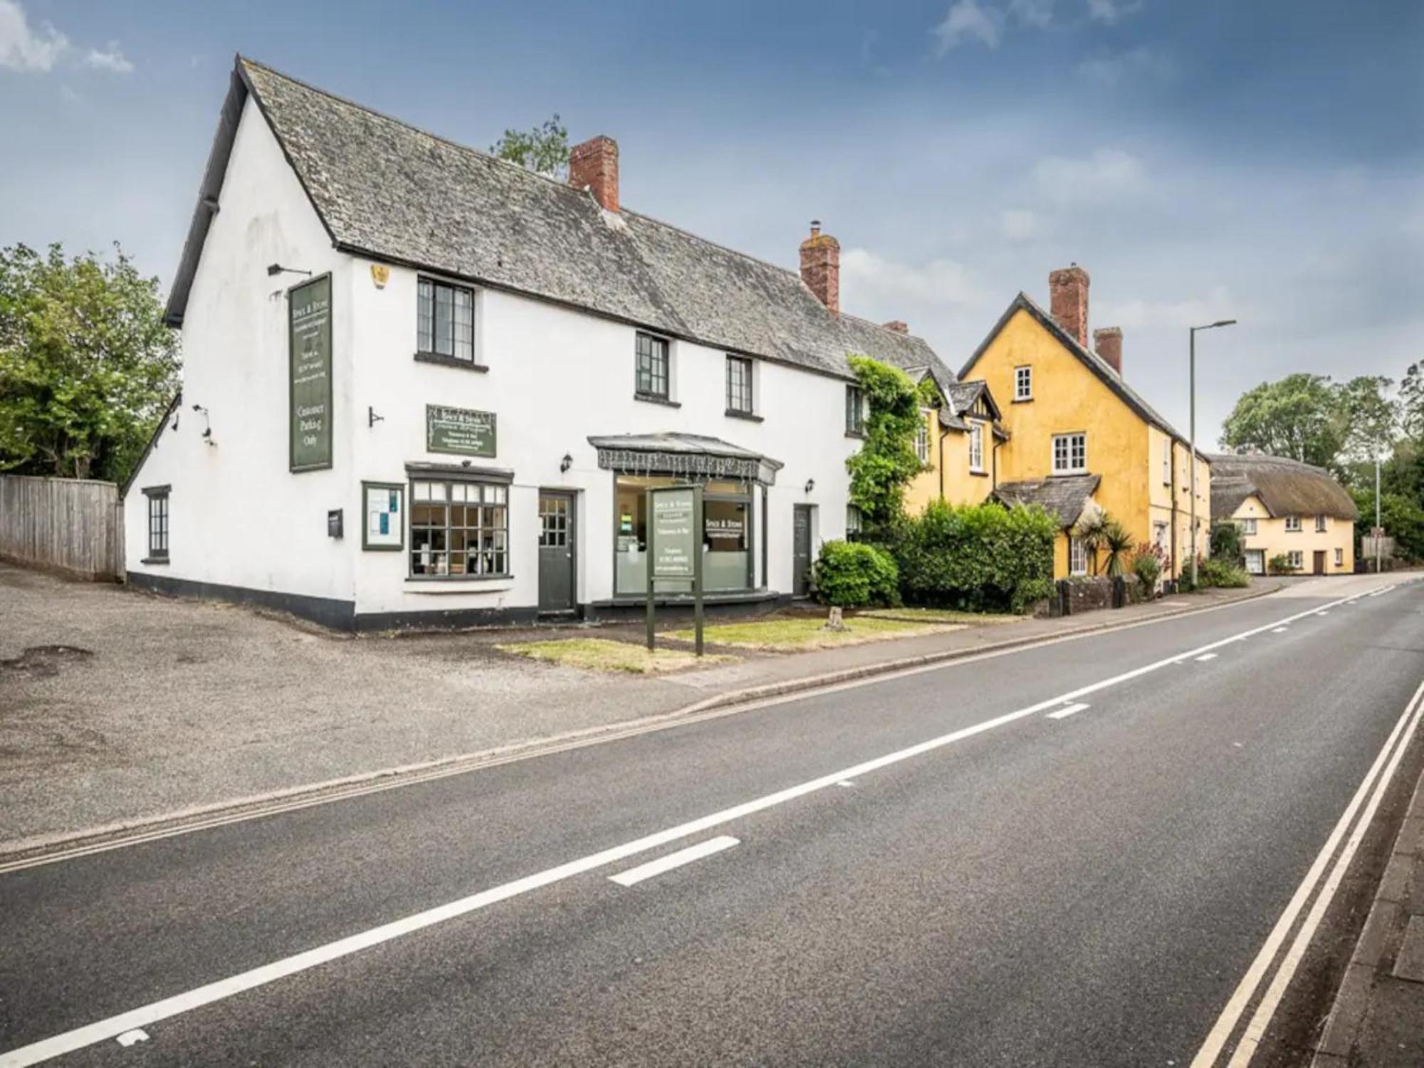
<path fill-rule="evenodd" d="M 953 373 L 920 337 L 834 315 L 795 271 L 335 97 L 251 60 L 232 85 L 168 302 L 184 306 L 252 95 L 332 244 L 712 347 L 852 377 L 849 353 Z"/>

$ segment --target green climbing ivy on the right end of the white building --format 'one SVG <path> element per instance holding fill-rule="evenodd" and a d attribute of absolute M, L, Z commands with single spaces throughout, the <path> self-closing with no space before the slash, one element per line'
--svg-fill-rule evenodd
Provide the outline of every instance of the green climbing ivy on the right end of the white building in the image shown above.
<path fill-rule="evenodd" d="M 924 464 L 914 454 L 914 436 L 920 429 L 920 404 L 933 403 L 933 383 L 921 386 L 899 367 L 852 356 L 866 397 L 864 443 L 846 460 L 850 471 L 850 503 L 860 508 L 866 531 L 871 535 L 894 527 L 904 515 L 904 488 Z"/>

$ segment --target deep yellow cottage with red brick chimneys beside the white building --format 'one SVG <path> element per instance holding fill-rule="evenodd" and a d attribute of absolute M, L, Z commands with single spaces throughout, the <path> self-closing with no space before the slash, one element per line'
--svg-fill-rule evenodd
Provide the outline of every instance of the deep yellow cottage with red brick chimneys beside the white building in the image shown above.
<path fill-rule="evenodd" d="M 1094 347 L 1088 347 L 1088 272 L 1074 265 L 1049 275 L 1051 312 L 1024 293 L 1014 298 L 960 380 L 946 390 L 950 397 L 956 390 L 964 397 L 973 392 L 975 400 L 964 412 L 951 403 L 927 414 L 927 430 L 938 424 L 953 443 L 943 459 L 944 439 L 931 447 L 940 466 L 916 480 L 907 504 L 923 507 L 934 497 L 1040 504 L 1062 530 L 1055 578 L 1095 570 L 1072 530 L 1084 511 L 1102 510 L 1138 547 L 1159 547 L 1163 577 L 1176 578 L 1190 562 L 1190 447 L 1124 379 L 1119 329 L 1094 332 Z M 985 403 L 975 412 L 980 399 Z M 973 451 L 974 431 L 960 431 L 946 420 L 981 424 L 980 451 Z M 1210 493 L 1210 460 L 1198 454 L 1198 553 L 1203 555 Z"/>

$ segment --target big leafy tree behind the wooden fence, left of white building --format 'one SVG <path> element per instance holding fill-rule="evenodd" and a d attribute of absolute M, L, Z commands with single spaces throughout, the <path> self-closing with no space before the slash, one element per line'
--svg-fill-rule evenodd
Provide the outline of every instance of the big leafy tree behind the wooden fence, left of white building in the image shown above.
<path fill-rule="evenodd" d="M 0 249 L 0 470 L 121 481 L 178 389 L 158 279 L 114 256 Z"/>

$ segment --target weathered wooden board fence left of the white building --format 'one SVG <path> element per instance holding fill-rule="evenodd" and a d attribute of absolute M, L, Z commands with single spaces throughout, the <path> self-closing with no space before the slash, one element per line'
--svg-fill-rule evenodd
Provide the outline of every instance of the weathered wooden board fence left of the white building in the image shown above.
<path fill-rule="evenodd" d="M 78 578 L 121 578 L 118 487 L 87 478 L 0 476 L 0 557 Z"/>

